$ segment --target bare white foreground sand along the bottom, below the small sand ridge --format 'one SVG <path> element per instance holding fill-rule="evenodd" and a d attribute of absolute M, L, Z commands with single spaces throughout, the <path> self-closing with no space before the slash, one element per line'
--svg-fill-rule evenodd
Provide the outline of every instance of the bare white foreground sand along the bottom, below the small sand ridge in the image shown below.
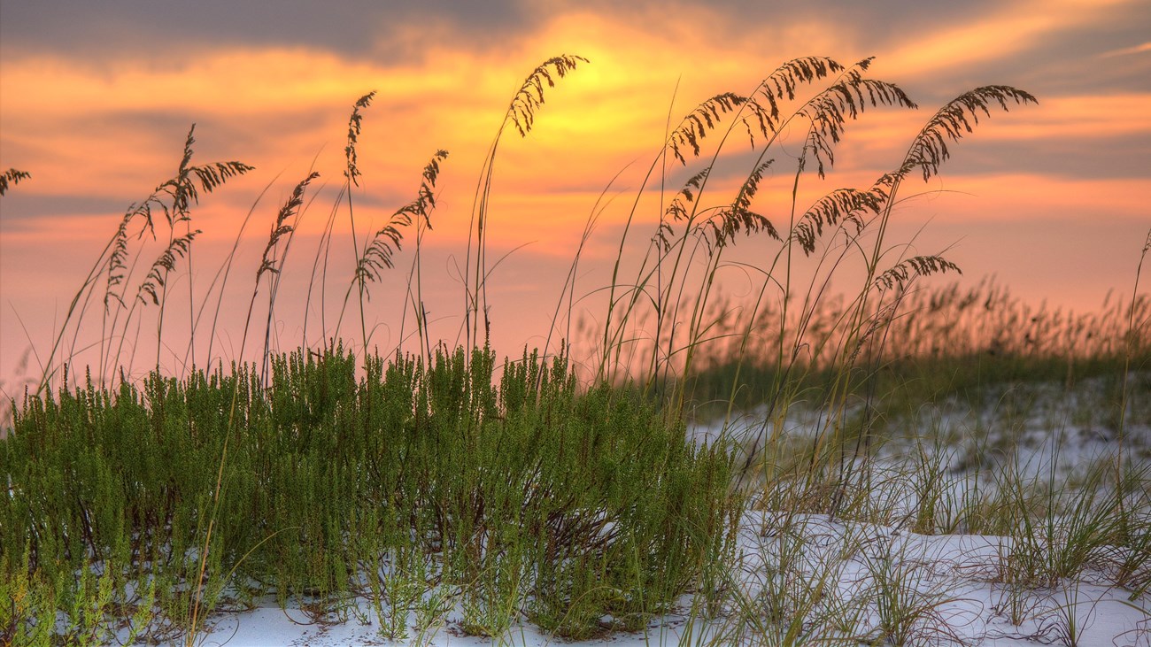
<path fill-rule="evenodd" d="M 749 511 L 739 538 L 739 556 L 732 573 L 741 595 L 752 604 L 767 604 L 764 585 L 778 563 L 783 519 L 778 515 Z M 924 536 L 869 524 L 840 524 L 825 516 L 793 517 L 805 541 L 806 568 L 820 577 L 833 572 L 836 595 L 856 600 L 869 610 L 856 617 L 853 631 L 874 637 L 878 623 L 876 573 L 897 578 L 895 589 L 922 617 L 909 622 L 913 645 L 1066 645 L 1078 647 L 1151 646 L 1151 604 L 1128 600 L 1128 592 L 1098 581 L 1066 583 L 1051 589 L 1029 592 L 1021 600 L 1028 619 L 1014 625 L 1011 596 L 994 584 L 993 564 L 1009 548 L 1009 540 L 982 535 Z M 794 535 L 792 535 L 794 536 Z M 877 570 L 878 569 L 878 570 Z M 1088 578 L 1090 580 L 1090 578 Z M 570 645 L 703 645 L 772 644 L 752 632 L 739 634 L 735 614 L 710 619 L 693 618 L 691 597 L 681 599 L 678 612 L 653 619 L 647 632 L 613 633 Z M 371 617 L 366 604 L 360 609 Z M 256 610 L 216 616 L 197 645 L 241 646 L 348 646 L 348 645 L 517 645 L 565 644 L 519 624 L 497 639 L 465 637 L 459 631 L 458 609 L 445 622 L 421 635 L 391 641 L 374 624 L 357 619 L 319 623 L 299 608 L 280 609 L 273 601 Z M 782 631 L 782 629 L 780 629 Z M 862 642 L 862 641 L 861 641 Z"/>

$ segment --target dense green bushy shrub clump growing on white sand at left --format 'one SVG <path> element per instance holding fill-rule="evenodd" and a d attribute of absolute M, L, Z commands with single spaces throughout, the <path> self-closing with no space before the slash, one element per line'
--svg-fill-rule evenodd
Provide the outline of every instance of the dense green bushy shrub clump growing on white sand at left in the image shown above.
<path fill-rule="evenodd" d="M 726 454 L 625 390 L 578 389 L 564 358 L 496 367 L 460 349 L 357 378 L 337 347 L 276 358 L 267 389 L 234 366 L 29 397 L 0 443 L 3 572 L 31 573 L 49 616 L 107 586 L 97 614 L 123 618 L 154 583 L 175 625 L 261 594 L 374 596 L 387 624 L 429 591 L 459 592 L 479 634 L 520 614 L 569 637 L 642 625 L 730 547 Z"/>

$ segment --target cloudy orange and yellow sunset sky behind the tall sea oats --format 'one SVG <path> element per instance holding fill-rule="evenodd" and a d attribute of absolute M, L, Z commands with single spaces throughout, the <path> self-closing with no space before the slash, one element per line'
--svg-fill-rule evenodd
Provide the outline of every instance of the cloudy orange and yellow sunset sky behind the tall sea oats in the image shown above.
<path fill-rule="evenodd" d="M 0 375 L 15 371 L 29 337 L 37 352 L 51 347 L 124 210 L 175 172 L 192 123 L 193 161 L 256 167 L 193 208 L 204 231 L 196 281 L 207 286 L 270 183 L 245 233 L 246 256 L 235 269 L 243 277 L 229 288 L 246 305 L 269 222 L 314 165 L 323 188 L 310 193 L 317 197 L 289 280 L 304 286 L 343 181 L 351 106 L 371 90 L 378 96 L 364 111 L 358 233 L 414 197 L 428 158 L 448 150 L 426 238 L 426 291 L 450 320 L 463 302 L 451 259 L 463 262 L 480 163 L 526 74 L 562 53 L 590 62 L 549 89 L 535 131 L 526 139 L 511 132 L 496 161 L 490 257 L 525 245 L 491 279 L 505 299 L 493 312 L 502 352 L 541 343 L 532 340 L 546 333 L 584 222 L 631 163 L 587 261 L 609 262 L 669 109 L 678 121 L 699 101 L 749 92 L 779 63 L 805 55 L 843 63 L 876 56 L 869 76 L 900 85 L 920 105 L 849 123 L 834 172 L 807 181 L 811 191 L 869 187 L 900 162 L 936 108 L 978 85 L 1013 85 L 1039 104 L 996 112 L 952 147 L 940 177 L 916 180 L 908 193 L 930 193 L 901 207 L 898 234 L 922 229 L 918 253 L 947 250 L 965 281 L 996 275 L 1036 303 L 1091 309 L 1110 289 L 1131 289 L 1151 227 L 1145 0 L 2 0 L 0 170 L 32 177 L 0 203 Z M 731 151 L 727 180 L 738 183 L 746 168 L 734 162 L 746 143 Z M 794 166 L 779 168 L 761 196 L 769 218 Z M 350 251 L 348 233 L 343 218 L 336 236 L 345 238 L 334 249 Z M 397 282 L 409 262 L 401 257 Z M 335 283 L 342 292 L 346 277 Z M 595 287 L 589 279 L 580 289 Z M 373 307 L 387 299 L 373 297 Z M 294 338 L 299 324 L 290 319 L 284 314 L 281 330 Z M 390 348 L 395 340 L 386 337 L 381 332 L 379 342 Z"/>

